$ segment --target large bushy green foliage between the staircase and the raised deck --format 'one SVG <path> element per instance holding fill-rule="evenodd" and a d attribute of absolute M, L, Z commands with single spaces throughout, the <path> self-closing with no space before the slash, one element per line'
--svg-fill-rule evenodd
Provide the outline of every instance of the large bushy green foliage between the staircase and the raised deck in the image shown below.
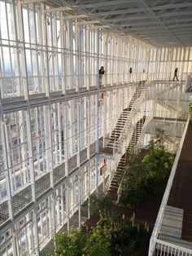
<path fill-rule="evenodd" d="M 173 157 L 162 145 L 163 132 L 157 143 L 150 143 L 146 153 L 130 157 L 120 189 L 120 204 L 137 207 L 148 192 L 159 192 L 172 169 Z"/>

